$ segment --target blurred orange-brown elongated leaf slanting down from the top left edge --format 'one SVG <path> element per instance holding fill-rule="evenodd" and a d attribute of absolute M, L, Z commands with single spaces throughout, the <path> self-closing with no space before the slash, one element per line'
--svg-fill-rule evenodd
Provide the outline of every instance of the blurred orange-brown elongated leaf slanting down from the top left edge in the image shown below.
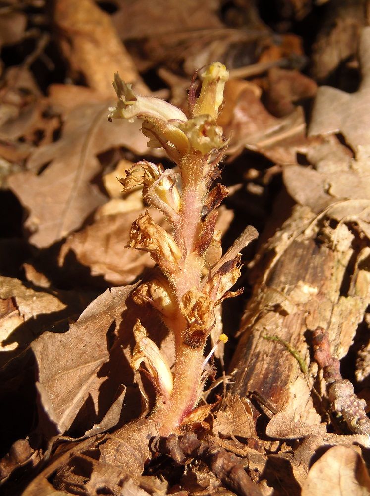
<path fill-rule="evenodd" d="M 77 77 L 82 73 L 88 86 L 106 97 L 113 97 L 111 80 L 113 74 L 119 72 L 125 81 L 135 84 L 139 93 L 148 93 L 110 15 L 93 0 L 56 1 L 54 22 L 59 29 L 60 48 L 71 71 Z"/>

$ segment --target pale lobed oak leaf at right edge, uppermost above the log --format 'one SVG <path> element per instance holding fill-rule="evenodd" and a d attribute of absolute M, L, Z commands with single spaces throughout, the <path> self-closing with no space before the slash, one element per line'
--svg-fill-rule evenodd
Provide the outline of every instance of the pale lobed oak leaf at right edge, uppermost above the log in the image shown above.
<path fill-rule="evenodd" d="M 370 27 L 362 30 L 359 46 L 362 81 L 355 93 L 322 86 L 318 89 L 309 135 L 341 132 L 357 155 L 359 146 L 370 151 Z"/>

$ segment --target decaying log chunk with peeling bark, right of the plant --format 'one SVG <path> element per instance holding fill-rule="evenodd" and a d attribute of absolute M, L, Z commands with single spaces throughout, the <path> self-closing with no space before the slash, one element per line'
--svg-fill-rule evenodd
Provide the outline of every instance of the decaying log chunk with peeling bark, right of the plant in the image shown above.
<path fill-rule="evenodd" d="M 281 342 L 264 336 L 289 343 L 309 366 L 307 331 L 321 326 L 333 354 L 338 359 L 347 354 L 370 303 L 370 274 L 362 263 L 370 250 L 351 224 L 340 224 L 340 229 L 341 243 L 333 244 L 338 233 L 326 219 L 296 205 L 255 262 L 253 272 L 259 279 L 232 363 L 233 392 L 245 396 L 257 391 L 273 403 L 278 415 L 285 413 L 282 419 L 291 419 L 292 435 L 298 423 L 304 435 L 305 425 L 321 422 L 313 408 L 313 379 Z"/>

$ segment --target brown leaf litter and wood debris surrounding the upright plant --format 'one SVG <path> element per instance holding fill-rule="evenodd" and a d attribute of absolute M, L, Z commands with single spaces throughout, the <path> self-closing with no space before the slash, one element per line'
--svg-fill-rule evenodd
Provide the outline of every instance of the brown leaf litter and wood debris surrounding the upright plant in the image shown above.
<path fill-rule="evenodd" d="M 277 35 L 261 7 L 240 2 L 223 10 L 218 1 L 206 2 L 204 16 L 189 14 L 191 0 L 174 3 L 167 22 L 163 5 L 117 1 L 107 13 L 104 3 L 86 0 L 76 9 L 59 0 L 54 27 L 40 24 L 51 15 L 43 2 L 35 7 L 39 17 L 23 4 L 0 12 L 1 25 L 12 26 L 1 37 L 7 50 L 35 40 L 31 58 L 17 67 L 2 61 L 1 185 L 24 211 L 20 220 L 11 213 L 18 227 L 5 237 L 27 249 L 20 248 L 20 261 L 10 257 L 1 275 L 0 372 L 9 409 L 31 407 L 28 415 L 17 413 L 4 438 L 2 489 L 26 496 L 370 494 L 370 28 L 354 14 L 359 55 L 349 47 L 347 70 L 360 67 L 362 79 L 349 93 L 340 80 L 325 80 L 340 61 L 333 50 L 328 55 L 318 27 L 316 65 L 307 75 L 301 39 L 286 34 L 294 9 Z M 344 6 L 325 11 L 307 3 L 302 19 L 309 12 L 325 22 L 343 19 Z M 36 27 L 26 27 L 26 19 Z M 47 41 L 56 27 L 62 62 Z M 347 32 L 344 23 L 336 29 Z M 333 43 L 335 32 L 330 36 Z M 225 305 L 213 336 L 216 344 L 222 332 L 239 334 L 234 358 L 229 343 L 218 345 L 204 395 L 209 403 L 198 405 L 181 432 L 163 438 L 141 416 L 139 391 L 148 393 L 149 407 L 154 397 L 146 371 L 139 378 L 130 368 L 138 315 L 170 366 L 175 348 L 155 310 L 132 299 L 137 281 L 156 275 L 147 254 L 124 249 L 132 222 L 148 207 L 135 192 L 122 195 L 115 182 L 151 151 L 140 122 L 107 121 L 110 81 L 119 70 L 139 93 L 183 105 L 185 76 L 216 59 L 235 74 L 219 121 L 230 136 L 223 244 L 231 247 L 248 223 L 264 230 L 263 242 L 256 253 L 248 248 L 255 259 L 243 281 L 250 298 L 239 333 L 241 303 L 234 315 Z M 55 63 L 63 65 L 63 78 Z M 160 151 L 150 158 L 159 157 Z M 280 174 L 283 187 L 274 179 Z M 260 208 L 253 220 L 249 200 L 233 192 L 238 183 Z M 151 216 L 165 225 L 163 216 Z M 308 278 L 299 262 L 306 245 Z M 325 264 L 335 270 L 320 272 Z M 326 361 L 313 337 L 319 327 L 326 331 Z M 238 357 L 248 357 L 248 349 L 254 358 L 241 365 Z M 21 382 L 20 391 L 28 388 L 24 405 L 13 392 Z M 6 422 L 10 417 L 6 412 Z"/>

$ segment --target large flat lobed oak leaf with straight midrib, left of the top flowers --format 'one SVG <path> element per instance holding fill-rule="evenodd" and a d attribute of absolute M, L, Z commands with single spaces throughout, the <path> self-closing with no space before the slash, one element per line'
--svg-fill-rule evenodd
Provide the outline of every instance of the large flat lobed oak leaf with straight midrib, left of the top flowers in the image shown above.
<path fill-rule="evenodd" d="M 9 177 L 10 189 L 29 210 L 25 227 L 36 246 L 47 247 L 79 228 L 106 201 L 91 183 L 101 169 L 98 153 L 118 146 L 146 152 L 146 138 L 135 132 L 140 123 L 109 123 L 108 106 L 95 102 L 73 107 L 65 116 L 60 139 L 37 149 L 27 171 Z"/>

